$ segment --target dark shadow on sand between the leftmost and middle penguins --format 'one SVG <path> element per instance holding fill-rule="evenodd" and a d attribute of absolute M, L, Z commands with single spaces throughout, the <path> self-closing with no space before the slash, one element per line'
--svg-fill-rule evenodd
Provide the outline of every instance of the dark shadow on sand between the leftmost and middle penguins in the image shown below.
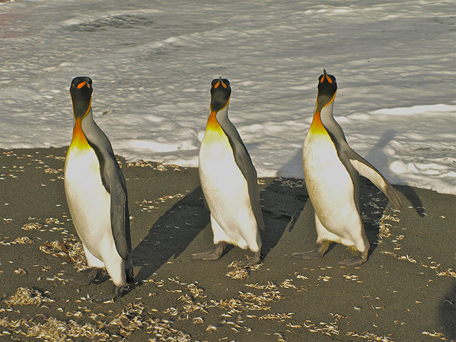
<path fill-rule="evenodd" d="M 133 249 L 133 266 L 141 267 L 135 274 L 138 286 L 171 257 L 179 257 L 209 224 L 202 196 L 199 186 L 162 214 L 140 239 Z"/>

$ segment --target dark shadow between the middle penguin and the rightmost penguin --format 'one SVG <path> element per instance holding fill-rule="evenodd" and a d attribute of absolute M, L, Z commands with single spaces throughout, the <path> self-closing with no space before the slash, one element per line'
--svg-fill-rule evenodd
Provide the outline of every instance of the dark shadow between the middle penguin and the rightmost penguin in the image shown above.
<path fill-rule="evenodd" d="M 291 167 L 296 165 L 302 167 L 302 149 L 281 167 L 279 174 L 283 173 L 281 170 L 292 170 Z M 302 178 L 278 177 L 261 190 L 260 197 L 265 225 L 264 232 L 261 232 L 261 252 L 266 257 L 279 243 L 286 230 L 291 232 L 294 229 L 309 200 L 309 195 Z"/>

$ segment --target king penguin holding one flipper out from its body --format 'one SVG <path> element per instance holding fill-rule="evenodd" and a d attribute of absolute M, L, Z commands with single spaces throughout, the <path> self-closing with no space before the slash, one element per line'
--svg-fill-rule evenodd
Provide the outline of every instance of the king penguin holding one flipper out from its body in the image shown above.
<path fill-rule="evenodd" d="M 367 177 L 400 209 L 401 202 L 385 177 L 348 145 L 343 130 L 333 118 L 336 78 L 318 78 L 314 118 L 303 147 L 304 178 L 315 209 L 316 249 L 294 253 L 302 259 L 323 257 L 331 242 L 351 249 L 355 259 L 339 262 L 345 266 L 368 259 L 369 242 L 360 215 L 359 174 Z"/>

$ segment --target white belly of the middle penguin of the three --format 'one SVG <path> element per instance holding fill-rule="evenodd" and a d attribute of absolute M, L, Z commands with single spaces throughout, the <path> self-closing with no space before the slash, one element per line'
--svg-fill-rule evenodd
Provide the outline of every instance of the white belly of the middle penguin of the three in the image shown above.
<path fill-rule="evenodd" d="M 214 242 L 259 249 L 257 221 L 247 180 L 224 135 L 208 131 L 199 150 L 199 178 L 209 210 L 223 232 L 212 227 Z"/>

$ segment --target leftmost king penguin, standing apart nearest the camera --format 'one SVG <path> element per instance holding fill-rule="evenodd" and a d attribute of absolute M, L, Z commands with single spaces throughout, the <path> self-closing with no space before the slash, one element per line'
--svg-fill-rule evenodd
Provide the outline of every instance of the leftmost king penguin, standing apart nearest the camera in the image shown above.
<path fill-rule="evenodd" d="M 93 120 L 92 80 L 71 81 L 73 139 L 65 161 L 65 193 L 89 268 L 69 276 L 90 284 L 104 268 L 113 281 L 114 299 L 134 285 L 127 188 L 108 137 Z"/>

